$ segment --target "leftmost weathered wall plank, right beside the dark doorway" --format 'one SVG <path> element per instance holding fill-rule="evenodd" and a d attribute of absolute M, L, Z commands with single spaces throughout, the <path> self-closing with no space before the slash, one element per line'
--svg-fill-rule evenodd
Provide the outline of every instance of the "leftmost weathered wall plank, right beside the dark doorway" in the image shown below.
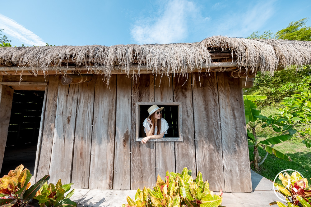
<path fill-rule="evenodd" d="M 46 107 L 45 109 L 42 109 L 45 110 L 47 116 L 44 117 L 41 152 L 37 164 L 38 171 L 35 175 L 36 181 L 41 179 L 44 175 L 49 174 L 58 97 L 58 83 L 58 76 L 49 76 Z"/>

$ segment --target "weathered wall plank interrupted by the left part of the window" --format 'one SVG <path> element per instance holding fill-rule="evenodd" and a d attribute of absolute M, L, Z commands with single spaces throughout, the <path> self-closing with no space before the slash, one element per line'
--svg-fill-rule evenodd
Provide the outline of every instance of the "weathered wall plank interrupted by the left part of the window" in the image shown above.
<path fill-rule="evenodd" d="M 135 141 L 136 102 L 154 101 L 154 75 L 142 74 L 132 86 L 132 142 L 131 142 L 131 189 L 152 187 L 156 184 L 155 142 L 142 144 Z M 146 117 L 147 118 L 147 117 Z"/>

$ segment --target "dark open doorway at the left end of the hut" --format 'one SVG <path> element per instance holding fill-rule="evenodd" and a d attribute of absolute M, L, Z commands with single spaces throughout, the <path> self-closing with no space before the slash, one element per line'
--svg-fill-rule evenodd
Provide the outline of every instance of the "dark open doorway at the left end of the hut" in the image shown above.
<path fill-rule="evenodd" d="M 23 164 L 33 175 L 44 91 L 14 91 L 0 177 Z"/>

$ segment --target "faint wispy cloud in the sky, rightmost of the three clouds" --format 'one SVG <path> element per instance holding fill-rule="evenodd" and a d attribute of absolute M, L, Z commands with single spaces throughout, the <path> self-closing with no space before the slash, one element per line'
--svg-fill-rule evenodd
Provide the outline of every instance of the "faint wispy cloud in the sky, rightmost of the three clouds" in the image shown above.
<path fill-rule="evenodd" d="M 246 12 L 229 13 L 217 21 L 216 34 L 229 37 L 247 37 L 260 30 L 274 14 L 274 2 L 259 2 Z M 262 31 L 263 32 L 263 31 Z"/>

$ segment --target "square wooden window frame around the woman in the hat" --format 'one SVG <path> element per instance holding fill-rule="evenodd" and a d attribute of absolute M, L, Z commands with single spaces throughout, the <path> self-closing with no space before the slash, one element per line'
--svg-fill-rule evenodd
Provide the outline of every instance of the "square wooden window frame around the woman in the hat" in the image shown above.
<path fill-rule="evenodd" d="M 164 106 L 178 106 L 178 137 L 164 137 L 161 139 L 149 139 L 148 142 L 183 142 L 183 118 L 182 118 L 182 102 L 136 102 L 136 142 L 141 142 L 144 137 L 139 137 L 139 118 L 140 118 L 140 106 L 146 105 L 164 105 Z"/>

